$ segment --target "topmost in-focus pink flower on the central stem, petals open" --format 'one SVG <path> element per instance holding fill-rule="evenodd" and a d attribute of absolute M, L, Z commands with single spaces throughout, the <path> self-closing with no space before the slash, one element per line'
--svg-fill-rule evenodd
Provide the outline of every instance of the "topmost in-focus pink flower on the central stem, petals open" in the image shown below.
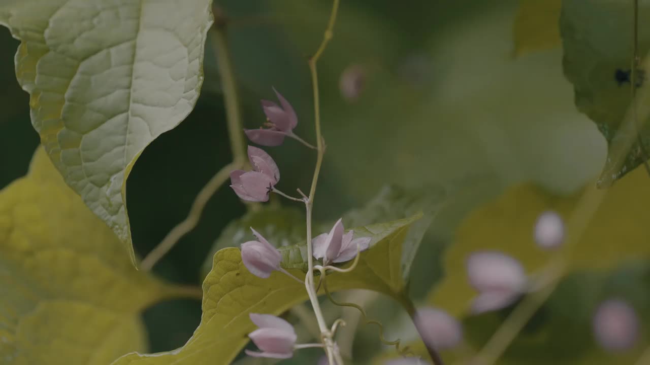
<path fill-rule="evenodd" d="M 298 116 L 291 104 L 274 88 L 281 107 L 268 100 L 262 101 L 262 109 L 270 124 L 268 129 L 244 129 L 244 133 L 252 142 L 266 146 L 281 145 L 287 135 L 293 134 L 293 129 L 298 125 Z"/>

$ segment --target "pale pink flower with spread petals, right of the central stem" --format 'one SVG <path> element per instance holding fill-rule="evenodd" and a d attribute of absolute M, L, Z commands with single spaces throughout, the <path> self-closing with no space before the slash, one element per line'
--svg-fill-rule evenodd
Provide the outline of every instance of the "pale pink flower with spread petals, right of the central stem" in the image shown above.
<path fill-rule="evenodd" d="M 360 237 L 352 240 L 354 231 L 343 234 L 343 221 L 339 219 L 332 227 L 330 233 L 319 234 L 313 240 L 313 255 L 315 258 L 323 258 L 323 264 L 331 262 L 339 263 L 352 260 L 359 251 L 364 251 L 370 246 L 370 237 Z"/>

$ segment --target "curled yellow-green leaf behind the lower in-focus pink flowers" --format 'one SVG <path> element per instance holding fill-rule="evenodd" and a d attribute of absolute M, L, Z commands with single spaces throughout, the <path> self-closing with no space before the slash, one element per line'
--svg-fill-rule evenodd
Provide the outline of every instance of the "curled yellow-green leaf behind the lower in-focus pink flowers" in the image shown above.
<path fill-rule="evenodd" d="M 359 264 L 350 273 L 328 275 L 331 291 L 363 288 L 382 292 L 404 301 L 404 281 L 400 271 L 402 243 L 412 223 L 421 214 L 354 229 L 356 236 L 372 238 L 370 249 L 361 253 Z M 304 277 L 304 271 L 289 269 Z M 114 365 L 230 364 L 246 345 L 246 334 L 254 329 L 248 313 L 280 314 L 307 299 L 304 285 L 275 271 L 268 279 L 255 277 L 241 262 L 239 249 L 222 249 L 214 255 L 213 270 L 203 282 L 201 324 L 181 349 L 155 355 L 133 353 Z M 209 360 L 207 360 L 209 359 Z"/>

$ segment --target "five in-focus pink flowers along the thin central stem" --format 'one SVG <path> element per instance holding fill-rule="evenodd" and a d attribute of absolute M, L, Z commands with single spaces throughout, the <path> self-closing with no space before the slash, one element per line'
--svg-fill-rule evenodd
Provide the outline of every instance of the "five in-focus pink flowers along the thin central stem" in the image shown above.
<path fill-rule="evenodd" d="M 275 91 L 275 90 L 274 90 Z M 293 129 L 298 125 L 298 117 L 289 102 L 276 91 L 280 105 L 271 101 L 262 101 L 262 107 L 268 120 L 267 129 L 247 129 L 244 132 L 252 141 L 260 145 L 276 146 L 283 143 L 285 136 L 294 138 L 305 145 Z M 276 162 L 268 153 L 260 148 L 248 146 L 248 160 L 252 171 L 236 170 L 230 174 L 230 187 L 235 194 L 245 201 L 263 202 L 268 201 L 271 192 L 292 199 L 309 203 L 309 198 L 304 199 L 290 197 L 276 189 L 280 173 Z M 266 279 L 273 271 L 280 271 L 289 275 L 292 279 L 299 281 L 292 273 L 281 266 L 282 255 L 266 238 L 251 227 L 255 240 L 244 242 L 241 245 L 242 263 L 252 275 Z M 331 264 L 339 264 L 356 258 L 359 252 L 368 249 L 370 246 L 369 237 L 354 238 L 354 231 L 344 232 L 343 221 L 339 219 L 332 227 L 330 233 L 323 233 L 311 240 L 313 246 L 313 257 L 322 259 L 322 266 L 315 266 L 322 273 L 331 269 L 339 272 L 354 270 L 357 260 L 350 268 L 345 270 L 335 268 Z M 306 275 L 313 275 L 307 273 Z M 307 278 L 305 278 L 306 281 Z M 275 359 L 287 359 L 292 357 L 294 349 L 304 347 L 324 347 L 325 344 L 296 344 L 297 336 L 292 325 L 276 316 L 270 314 L 250 313 L 250 320 L 258 327 L 248 334 L 250 339 L 261 351 L 249 351 L 246 353 L 253 357 L 268 357 Z M 337 328 L 339 321 L 335 322 L 330 333 Z M 333 351 L 338 351 L 337 345 L 331 344 Z"/>

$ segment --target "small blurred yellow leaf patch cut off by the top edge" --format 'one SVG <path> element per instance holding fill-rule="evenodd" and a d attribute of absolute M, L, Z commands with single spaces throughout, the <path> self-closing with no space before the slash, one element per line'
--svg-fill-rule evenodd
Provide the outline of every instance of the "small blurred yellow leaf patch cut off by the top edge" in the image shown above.
<path fill-rule="evenodd" d="M 515 57 L 560 44 L 562 0 L 521 0 L 513 26 Z"/>

